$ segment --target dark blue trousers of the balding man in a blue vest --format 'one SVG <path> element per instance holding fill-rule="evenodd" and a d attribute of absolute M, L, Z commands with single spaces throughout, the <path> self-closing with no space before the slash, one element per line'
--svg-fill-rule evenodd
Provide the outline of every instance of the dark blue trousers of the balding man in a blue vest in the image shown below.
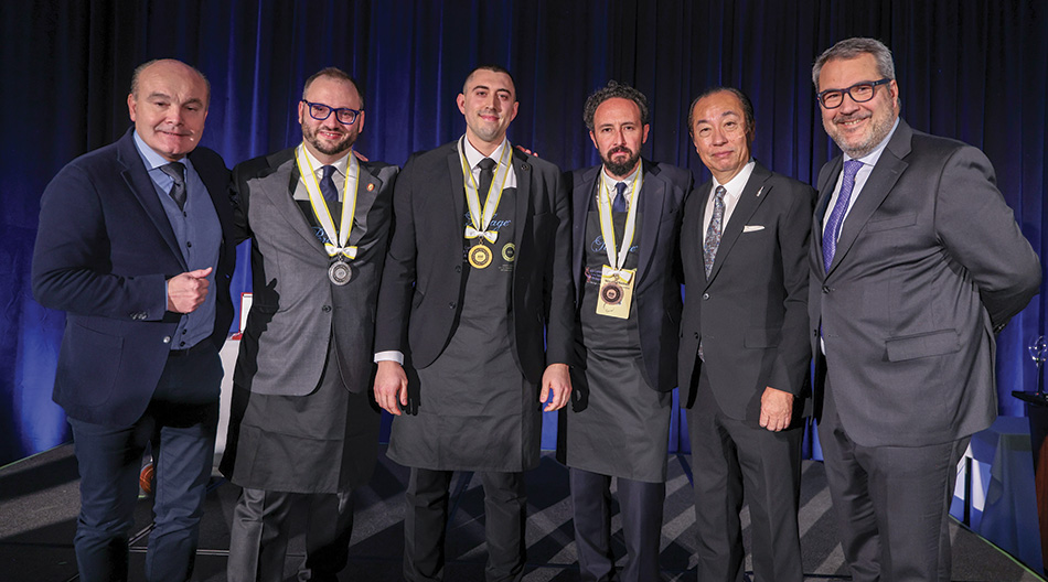
<path fill-rule="evenodd" d="M 128 536 L 149 442 L 157 482 L 146 578 L 169 582 L 192 575 L 222 380 L 218 351 L 205 342 L 168 358 L 146 413 L 130 427 L 69 419 L 81 474 L 73 545 L 82 581 L 128 579 Z"/>

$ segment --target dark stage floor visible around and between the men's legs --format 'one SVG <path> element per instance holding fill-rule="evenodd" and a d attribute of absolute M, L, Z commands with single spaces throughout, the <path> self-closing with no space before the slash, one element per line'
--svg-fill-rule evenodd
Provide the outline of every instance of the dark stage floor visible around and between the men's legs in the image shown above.
<path fill-rule="evenodd" d="M 805 461 L 801 487 L 801 547 L 808 580 L 849 580 L 828 513 L 822 463 Z M 402 516 L 408 472 L 379 454 L 371 484 L 359 489 L 350 564 L 342 581 L 400 579 Z M 691 465 L 687 455 L 673 456 L 666 484 L 662 529 L 662 568 L 666 581 L 695 580 L 695 531 L 692 511 Z M 446 580 L 482 581 L 484 559 L 483 489 L 469 473 L 453 481 L 452 516 L 448 532 Z M 201 527 L 195 580 L 225 580 L 229 522 L 237 487 L 213 479 Z M 578 580 L 567 470 L 550 453 L 527 474 L 528 582 Z M 0 470 L 0 581 L 73 581 L 77 579 L 73 531 L 78 510 L 76 461 L 72 445 L 63 445 Z M 617 508 L 616 508 L 617 511 Z M 142 580 L 150 521 L 149 499 L 136 515 L 131 580 Z M 748 513 L 742 525 L 747 545 Z M 612 527 L 620 524 L 616 513 Z M 301 527 L 298 528 L 299 530 Z M 954 524 L 953 580 L 965 582 L 1033 582 L 1042 580 L 1007 553 Z M 617 556 L 622 556 L 621 530 L 616 531 Z M 748 546 L 747 546 L 748 547 Z M 302 536 L 291 541 L 286 574 L 293 576 L 302 556 Z M 749 559 L 747 558 L 747 564 Z"/>

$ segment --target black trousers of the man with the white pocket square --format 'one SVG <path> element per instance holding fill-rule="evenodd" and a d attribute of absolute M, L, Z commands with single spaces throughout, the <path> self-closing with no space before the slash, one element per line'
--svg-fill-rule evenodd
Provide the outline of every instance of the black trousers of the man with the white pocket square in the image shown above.
<path fill-rule="evenodd" d="M 741 582 L 742 492 L 750 508 L 753 580 L 801 582 L 796 511 L 803 430 L 771 432 L 720 412 L 706 371 L 687 410 L 694 467 L 698 580 Z"/>

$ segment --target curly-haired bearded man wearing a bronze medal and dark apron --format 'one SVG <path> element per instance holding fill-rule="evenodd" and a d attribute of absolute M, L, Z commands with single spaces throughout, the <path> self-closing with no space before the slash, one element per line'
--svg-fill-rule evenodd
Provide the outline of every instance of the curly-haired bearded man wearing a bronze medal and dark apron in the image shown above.
<path fill-rule="evenodd" d="M 671 391 L 681 321 L 678 238 L 687 170 L 641 160 L 648 99 L 609 82 L 584 120 L 601 164 L 571 173 L 581 366 L 562 412 L 581 580 L 614 575 L 611 477 L 627 562 L 621 580 L 659 579 Z"/>

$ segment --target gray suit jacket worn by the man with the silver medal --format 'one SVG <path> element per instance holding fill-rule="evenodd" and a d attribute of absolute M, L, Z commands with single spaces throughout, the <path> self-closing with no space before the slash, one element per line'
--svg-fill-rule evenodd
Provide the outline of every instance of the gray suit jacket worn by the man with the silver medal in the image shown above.
<path fill-rule="evenodd" d="M 291 195 L 299 180 L 295 149 L 233 170 L 237 237 L 252 238 L 253 303 L 233 380 L 266 395 L 313 391 L 330 342 L 347 389 L 364 392 L 374 373 L 375 304 L 389 238 L 397 168 L 361 162 L 350 244 L 353 278 L 328 280 L 330 260 Z"/>

